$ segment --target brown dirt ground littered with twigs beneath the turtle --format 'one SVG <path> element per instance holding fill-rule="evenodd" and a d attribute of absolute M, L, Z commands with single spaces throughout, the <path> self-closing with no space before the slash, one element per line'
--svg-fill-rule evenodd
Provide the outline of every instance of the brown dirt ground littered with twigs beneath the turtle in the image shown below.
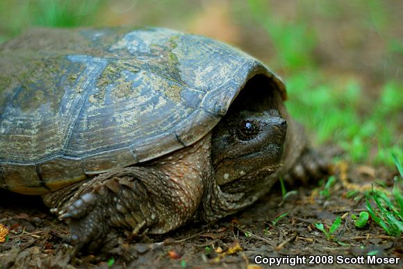
<path fill-rule="evenodd" d="M 256 255 L 306 257 L 302 267 L 313 266 L 309 259 L 320 259 L 323 267 L 331 263 L 331 257 L 334 266 L 337 255 L 359 257 L 374 250 L 378 251 L 377 257 L 402 258 L 402 238 L 387 236 L 371 220 L 363 229 L 354 226 L 351 216 L 365 210 L 365 198 L 346 197 L 351 189 L 368 188 L 368 182 L 375 178 L 386 180 L 386 185 L 392 186 L 396 173 L 384 168 L 350 167 L 344 162 L 336 164 L 334 170 L 337 182 L 330 189 L 329 198 L 320 196 L 324 187 L 315 183 L 297 187 L 297 194 L 280 204 L 278 184 L 252 207 L 217 223 L 190 223 L 163 236 L 140 236 L 131 241 L 123 238 L 120 248 L 95 256 L 72 255 L 73 248 L 65 241 L 67 226 L 49 213 L 40 198 L 1 191 L 0 223 L 10 229 L 8 241 L 0 243 L 1 268 L 252 269 L 268 266 L 256 265 Z M 289 212 L 287 216 L 275 225 L 271 223 L 285 212 Z M 342 216 L 342 225 L 334 239 L 327 240 L 313 223 L 330 226 L 337 216 Z M 309 257 L 312 254 L 327 256 Z M 400 265 L 383 264 L 384 268 L 401 265 L 402 262 Z M 351 268 L 347 261 L 339 266 Z"/>

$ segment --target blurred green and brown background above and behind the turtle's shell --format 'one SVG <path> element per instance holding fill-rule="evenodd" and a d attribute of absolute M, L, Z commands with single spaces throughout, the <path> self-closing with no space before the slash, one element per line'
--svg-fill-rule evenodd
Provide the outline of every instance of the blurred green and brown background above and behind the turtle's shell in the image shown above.
<path fill-rule="evenodd" d="M 33 27 L 162 26 L 237 46 L 279 73 L 317 145 L 403 160 L 401 0 L 0 0 L 0 43 Z"/>

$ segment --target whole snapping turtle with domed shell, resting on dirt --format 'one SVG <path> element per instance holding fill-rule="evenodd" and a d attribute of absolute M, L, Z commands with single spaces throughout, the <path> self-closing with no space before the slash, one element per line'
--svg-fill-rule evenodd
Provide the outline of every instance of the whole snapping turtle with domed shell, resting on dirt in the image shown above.
<path fill-rule="evenodd" d="M 206 37 L 39 29 L 1 46 L 0 73 L 0 187 L 42 195 L 77 248 L 217 220 L 327 169 L 281 79 Z"/>

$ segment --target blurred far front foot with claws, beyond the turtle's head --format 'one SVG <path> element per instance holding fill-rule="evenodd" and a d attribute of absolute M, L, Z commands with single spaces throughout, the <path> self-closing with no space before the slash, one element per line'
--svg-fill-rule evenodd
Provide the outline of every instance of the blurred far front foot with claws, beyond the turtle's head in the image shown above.
<path fill-rule="evenodd" d="M 312 149 L 306 149 L 297 159 L 297 162 L 290 170 L 283 175 L 283 179 L 289 184 L 295 181 L 307 184 L 308 182 L 321 179 L 324 175 L 331 173 L 329 160 Z"/>

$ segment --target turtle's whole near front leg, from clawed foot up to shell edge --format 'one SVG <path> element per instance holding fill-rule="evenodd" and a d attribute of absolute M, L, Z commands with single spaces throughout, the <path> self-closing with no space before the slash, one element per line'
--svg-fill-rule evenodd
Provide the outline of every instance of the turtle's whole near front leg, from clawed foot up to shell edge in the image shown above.
<path fill-rule="evenodd" d="M 163 234 L 195 215 L 211 178 L 210 137 L 147 166 L 110 171 L 44 196 L 77 249 L 111 248 L 122 231 Z"/>

